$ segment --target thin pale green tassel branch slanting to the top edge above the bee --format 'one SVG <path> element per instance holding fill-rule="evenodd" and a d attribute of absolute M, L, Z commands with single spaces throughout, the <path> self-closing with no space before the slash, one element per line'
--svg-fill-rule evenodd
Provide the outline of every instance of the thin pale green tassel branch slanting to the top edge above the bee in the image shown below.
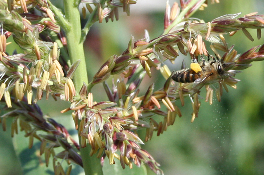
<path fill-rule="evenodd" d="M 163 34 L 162 35 L 165 35 L 165 34 L 167 34 L 167 33 L 169 33 L 170 32 L 170 30 L 176 25 L 176 24 L 179 24 L 180 22 L 182 22 L 183 21 L 183 19 L 184 19 L 184 16 L 187 14 L 187 12 L 191 9 L 191 8 L 193 8 L 193 6 L 196 4 L 196 3 L 198 3 L 199 2 L 199 4 L 197 4 L 197 6 L 195 7 L 196 9 L 195 10 L 193 10 L 193 12 L 192 13 L 190 13 L 189 14 L 189 17 L 194 13 L 194 12 L 196 12 L 196 10 L 198 10 L 199 9 L 199 7 L 205 2 L 205 0 L 192 0 L 192 1 L 190 1 L 190 3 L 187 5 L 187 7 L 185 7 L 183 10 L 182 10 L 182 12 L 179 14 L 179 16 L 167 27 L 167 29 L 165 29 L 164 30 L 164 32 L 163 32 Z"/>

